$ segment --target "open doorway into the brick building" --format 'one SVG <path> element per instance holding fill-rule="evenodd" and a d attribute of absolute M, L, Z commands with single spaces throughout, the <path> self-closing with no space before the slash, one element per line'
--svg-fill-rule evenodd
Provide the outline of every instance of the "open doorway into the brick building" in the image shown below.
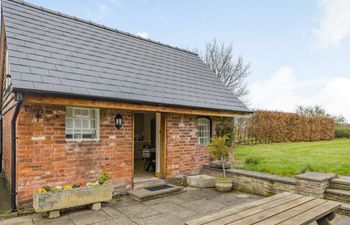
<path fill-rule="evenodd" d="M 134 113 L 134 181 L 154 178 L 159 172 L 159 119 L 159 113 Z"/>

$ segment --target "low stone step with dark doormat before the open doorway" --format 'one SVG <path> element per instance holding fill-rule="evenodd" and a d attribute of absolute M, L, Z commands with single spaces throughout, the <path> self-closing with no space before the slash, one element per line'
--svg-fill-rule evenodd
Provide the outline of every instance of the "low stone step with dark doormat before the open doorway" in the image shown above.
<path fill-rule="evenodd" d="M 162 189 L 162 187 L 165 188 Z M 146 201 L 155 198 L 161 198 L 168 195 L 182 193 L 184 191 L 185 189 L 183 187 L 166 184 L 131 190 L 128 191 L 128 194 L 132 199 L 135 199 L 136 201 Z"/>

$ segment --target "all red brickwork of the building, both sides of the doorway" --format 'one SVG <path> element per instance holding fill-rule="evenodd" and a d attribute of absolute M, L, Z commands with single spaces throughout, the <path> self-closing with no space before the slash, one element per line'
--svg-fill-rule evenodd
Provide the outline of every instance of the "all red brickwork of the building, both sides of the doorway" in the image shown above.
<path fill-rule="evenodd" d="M 24 102 L 17 120 L 17 202 L 30 206 L 33 191 L 44 185 L 91 182 L 106 171 L 113 183 L 131 185 L 133 177 L 133 113 L 100 109 L 99 140 L 65 139 L 64 106 L 29 105 Z M 123 127 L 114 126 L 115 115 L 123 116 Z M 4 171 L 11 174 L 11 119 L 4 115 Z M 199 173 L 209 162 L 207 146 L 197 140 L 198 116 L 166 114 L 167 178 Z M 212 136 L 215 137 L 215 118 Z"/>

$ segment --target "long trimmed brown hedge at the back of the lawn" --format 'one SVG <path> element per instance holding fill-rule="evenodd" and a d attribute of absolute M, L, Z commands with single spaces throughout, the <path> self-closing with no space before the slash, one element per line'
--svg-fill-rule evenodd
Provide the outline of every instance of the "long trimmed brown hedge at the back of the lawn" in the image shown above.
<path fill-rule="evenodd" d="M 255 143 L 334 139 L 331 118 L 296 113 L 256 111 L 249 120 L 249 139 Z"/>

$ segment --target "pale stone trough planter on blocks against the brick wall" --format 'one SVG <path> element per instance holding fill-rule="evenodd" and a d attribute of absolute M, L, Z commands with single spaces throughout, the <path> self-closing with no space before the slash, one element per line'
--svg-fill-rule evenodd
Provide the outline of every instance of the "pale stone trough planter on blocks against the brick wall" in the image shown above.
<path fill-rule="evenodd" d="M 112 184 L 44 193 L 35 192 L 33 207 L 35 212 L 47 212 L 49 218 L 55 218 L 60 216 L 60 209 L 89 205 L 92 210 L 99 210 L 101 202 L 112 200 L 112 194 Z"/>

